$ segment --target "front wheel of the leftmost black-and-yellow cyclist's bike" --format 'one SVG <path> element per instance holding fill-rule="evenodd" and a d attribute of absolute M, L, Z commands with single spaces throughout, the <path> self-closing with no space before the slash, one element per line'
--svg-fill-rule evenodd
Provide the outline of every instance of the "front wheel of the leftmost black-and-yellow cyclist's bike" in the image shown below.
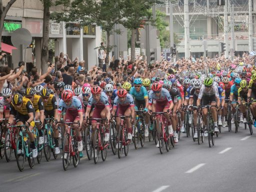
<path fill-rule="evenodd" d="M 18 153 L 18 150 L 19 153 Z M 22 143 L 22 137 L 20 135 L 17 136 L 16 138 L 16 152 L 15 152 L 15 158 L 17 161 L 18 169 L 20 171 L 24 170 L 24 165 L 25 165 L 25 148 Z"/>

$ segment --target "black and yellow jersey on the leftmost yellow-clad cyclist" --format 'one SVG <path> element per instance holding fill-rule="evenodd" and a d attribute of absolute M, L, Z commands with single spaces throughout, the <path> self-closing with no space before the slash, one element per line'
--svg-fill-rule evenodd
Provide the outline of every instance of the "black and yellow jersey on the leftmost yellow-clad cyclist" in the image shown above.
<path fill-rule="evenodd" d="M 14 105 L 12 102 L 10 104 L 10 114 L 16 115 L 16 112 L 19 112 L 20 114 L 27 115 L 30 112 L 34 113 L 34 107 L 31 101 L 28 98 L 23 97 L 22 98 L 22 106 L 18 108 L 16 105 Z"/>

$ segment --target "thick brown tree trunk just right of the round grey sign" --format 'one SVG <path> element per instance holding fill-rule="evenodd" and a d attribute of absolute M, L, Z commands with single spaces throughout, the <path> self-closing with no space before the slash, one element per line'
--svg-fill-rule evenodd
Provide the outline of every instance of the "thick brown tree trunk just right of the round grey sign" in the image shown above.
<path fill-rule="evenodd" d="M 48 0 L 43 0 L 43 24 L 42 24 L 42 50 L 41 50 L 41 74 L 48 68 L 48 42 L 50 10 Z"/>

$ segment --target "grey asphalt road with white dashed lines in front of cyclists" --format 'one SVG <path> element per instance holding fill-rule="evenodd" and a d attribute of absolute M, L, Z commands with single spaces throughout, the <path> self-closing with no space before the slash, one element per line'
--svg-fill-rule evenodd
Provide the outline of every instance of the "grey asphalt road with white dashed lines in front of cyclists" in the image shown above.
<path fill-rule="evenodd" d="M 128 156 L 118 159 L 108 149 L 106 161 L 83 157 L 66 171 L 60 158 L 46 162 L 43 156 L 33 169 L 26 161 L 23 172 L 14 156 L 8 163 L 0 159 L 0 191 L 256 191 L 253 131 L 250 136 L 243 124 L 238 133 L 222 128 L 211 148 L 206 138 L 198 145 L 181 133 L 175 148 L 163 154 L 146 138 L 143 148 L 131 144 Z"/>

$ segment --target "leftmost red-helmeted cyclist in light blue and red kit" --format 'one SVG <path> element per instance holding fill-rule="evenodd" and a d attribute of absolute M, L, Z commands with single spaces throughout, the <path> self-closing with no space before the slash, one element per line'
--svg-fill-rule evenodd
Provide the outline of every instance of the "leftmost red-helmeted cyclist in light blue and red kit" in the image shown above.
<path fill-rule="evenodd" d="M 59 101 L 58 109 L 57 109 L 57 118 L 56 120 L 59 121 L 61 117 L 62 109 L 66 109 L 65 118 L 64 121 L 70 121 L 70 122 L 78 122 L 82 124 L 83 121 L 83 106 L 80 101 L 80 99 L 77 96 L 73 96 L 73 93 L 71 90 L 65 90 L 61 94 L 61 100 Z M 57 128 L 58 123 L 55 124 L 55 129 Z M 82 151 L 82 140 L 81 140 L 81 132 L 77 129 L 78 124 L 73 125 L 75 128 L 75 132 L 77 135 L 77 144 L 78 144 L 78 151 Z M 67 125 L 65 125 L 65 128 L 67 128 Z M 66 148 L 65 148 L 66 150 Z M 64 158 L 66 158 L 67 154 L 64 155 Z"/>

